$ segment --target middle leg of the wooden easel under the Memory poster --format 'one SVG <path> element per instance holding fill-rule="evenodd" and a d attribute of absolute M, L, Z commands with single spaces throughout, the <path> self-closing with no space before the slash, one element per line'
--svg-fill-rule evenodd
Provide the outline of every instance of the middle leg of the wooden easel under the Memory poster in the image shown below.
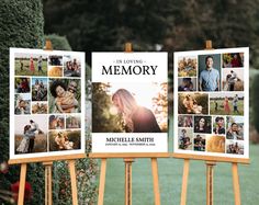
<path fill-rule="evenodd" d="M 125 162 L 125 205 L 132 205 L 132 162 L 134 159 L 124 159 Z"/>

